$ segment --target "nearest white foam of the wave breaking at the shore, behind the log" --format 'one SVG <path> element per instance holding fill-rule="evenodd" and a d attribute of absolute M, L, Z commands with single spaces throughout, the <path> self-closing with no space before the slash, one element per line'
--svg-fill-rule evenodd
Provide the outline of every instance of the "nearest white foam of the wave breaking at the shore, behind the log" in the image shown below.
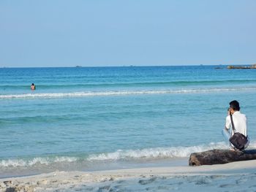
<path fill-rule="evenodd" d="M 251 142 L 248 149 L 254 149 L 256 142 Z M 36 166 L 37 164 L 53 164 L 53 163 L 72 163 L 75 161 L 118 161 L 118 160 L 140 160 L 140 159 L 159 159 L 159 158 L 187 158 L 191 153 L 202 152 L 213 149 L 228 149 L 227 142 L 210 143 L 208 145 L 197 145 L 189 147 L 156 147 L 141 150 L 116 150 L 113 153 L 91 154 L 84 158 L 56 156 L 56 157 L 37 157 L 29 160 L 26 159 L 8 159 L 0 161 L 1 167 L 17 167 L 17 166 Z"/>

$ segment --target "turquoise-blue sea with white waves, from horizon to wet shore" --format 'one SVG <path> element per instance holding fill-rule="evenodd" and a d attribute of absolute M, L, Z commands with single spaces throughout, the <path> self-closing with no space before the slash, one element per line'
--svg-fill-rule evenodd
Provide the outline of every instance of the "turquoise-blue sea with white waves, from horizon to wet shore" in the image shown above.
<path fill-rule="evenodd" d="M 187 164 L 190 153 L 228 147 L 234 99 L 255 147 L 256 70 L 226 68 L 1 68 L 0 177 Z"/>

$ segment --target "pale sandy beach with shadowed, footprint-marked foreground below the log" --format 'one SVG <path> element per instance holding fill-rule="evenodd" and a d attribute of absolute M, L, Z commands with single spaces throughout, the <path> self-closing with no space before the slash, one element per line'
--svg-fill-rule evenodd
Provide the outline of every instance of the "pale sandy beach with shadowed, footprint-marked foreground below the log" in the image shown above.
<path fill-rule="evenodd" d="M 255 191 L 256 161 L 101 172 L 51 172 L 0 180 L 0 191 Z"/>

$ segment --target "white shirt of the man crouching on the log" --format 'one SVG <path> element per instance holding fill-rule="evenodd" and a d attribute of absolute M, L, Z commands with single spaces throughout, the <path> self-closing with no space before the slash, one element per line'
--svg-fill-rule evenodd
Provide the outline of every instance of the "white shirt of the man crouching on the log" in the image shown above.
<path fill-rule="evenodd" d="M 242 114 L 240 111 L 236 111 L 232 115 L 233 117 L 233 123 L 236 129 L 236 132 L 239 132 L 240 134 L 244 134 L 245 137 L 247 137 L 247 120 L 246 115 Z M 230 119 L 230 115 L 226 118 L 226 128 L 231 128 L 231 136 L 233 136 L 233 128 L 232 123 Z"/>

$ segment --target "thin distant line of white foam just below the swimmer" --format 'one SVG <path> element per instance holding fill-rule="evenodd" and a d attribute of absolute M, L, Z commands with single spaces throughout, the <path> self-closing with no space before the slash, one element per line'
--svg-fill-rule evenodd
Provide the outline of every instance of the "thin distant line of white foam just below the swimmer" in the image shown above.
<path fill-rule="evenodd" d="M 70 93 L 25 93 L 25 94 L 7 94 L 0 95 L 0 99 L 29 99 L 29 98 L 62 98 L 62 97 L 85 97 L 85 96 L 124 96 L 124 95 L 142 95 L 142 94 L 171 94 L 171 93 L 207 93 L 222 91 L 252 91 L 256 87 L 247 88 L 192 88 L 177 90 L 159 90 L 159 91 L 81 91 Z"/>

